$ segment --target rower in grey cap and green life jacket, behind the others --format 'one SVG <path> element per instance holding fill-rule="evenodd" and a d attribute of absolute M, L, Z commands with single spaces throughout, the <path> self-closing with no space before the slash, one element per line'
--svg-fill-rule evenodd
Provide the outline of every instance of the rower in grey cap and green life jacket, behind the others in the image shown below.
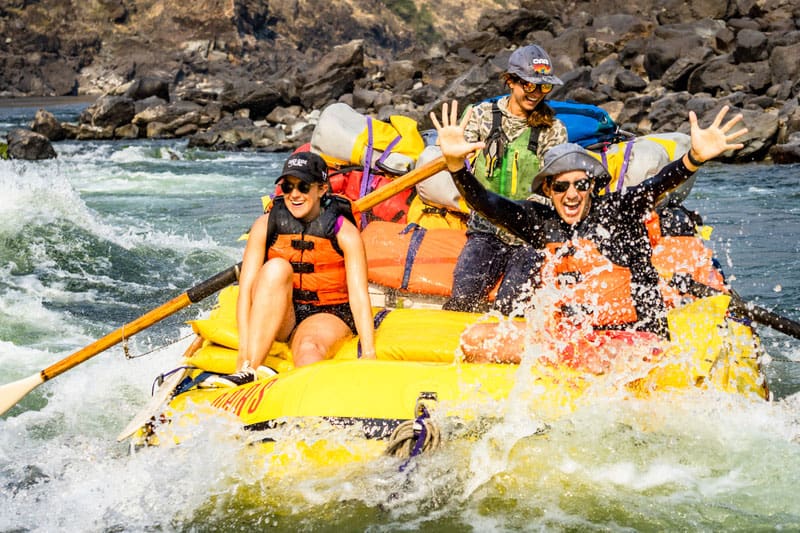
<path fill-rule="evenodd" d="M 538 45 L 518 48 L 502 75 L 510 93 L 472 108 L 464 130 L 468 141 L 484 141 L 473 163 L 473 174 L 492 192 L 521 200 L 530 194 L 531 180 L 544 154 L 567 142 L 567 129 L 545 103 L 554 85 L 550 56 Z M 467 243 L 459 255 L 450 299 L 445 309 L 482 311 L 492 287 L 502 277 L 495 307 L 510 314 L 518 281 L 530 277 L 531 252 L 523 241 L 472 212 Z"/>

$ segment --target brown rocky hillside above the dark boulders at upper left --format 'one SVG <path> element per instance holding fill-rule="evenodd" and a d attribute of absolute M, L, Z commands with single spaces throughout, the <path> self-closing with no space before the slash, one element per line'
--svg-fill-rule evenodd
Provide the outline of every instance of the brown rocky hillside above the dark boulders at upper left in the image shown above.
<path fill-rule="evenodd" d="M 103 93 L 139 77 L 292 75 L 363 39 L 371 57 L 473 27 L 493 0 L 7 0 L 0 96 Z M 458 13 L 458 19 L 451 14 Z"/>

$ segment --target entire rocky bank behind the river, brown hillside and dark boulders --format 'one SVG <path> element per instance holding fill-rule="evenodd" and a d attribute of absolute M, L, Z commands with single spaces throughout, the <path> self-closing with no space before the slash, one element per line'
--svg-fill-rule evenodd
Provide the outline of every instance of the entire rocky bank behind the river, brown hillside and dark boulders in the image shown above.
<path fill-rule="evenodd" d="M 0 96 L 104 94 L 79 138 L 191 136 L 288 149 L 344 101 L 425 122 L 444 99 L 503 90 L 536 42 L 565 81 L 637 134 L 730 104 L 751 133 L 737 160 L 797 160 L 800 0 L 7 0 Z"/>

